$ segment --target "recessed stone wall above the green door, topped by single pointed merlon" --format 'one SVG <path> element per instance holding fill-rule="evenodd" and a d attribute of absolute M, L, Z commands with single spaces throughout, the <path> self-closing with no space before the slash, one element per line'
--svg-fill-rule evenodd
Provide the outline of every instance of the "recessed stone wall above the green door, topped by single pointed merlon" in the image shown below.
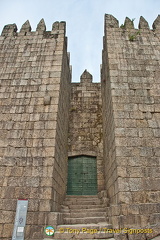
<path fill-rule="evenodd" d="M 68 151 L 69 156 L 89 155 L 97 158 L 98 191 L 103 190 L 101 85 L 92 83 L 92 75 L 86 70 L 80 83 L 71 84 Z"/>

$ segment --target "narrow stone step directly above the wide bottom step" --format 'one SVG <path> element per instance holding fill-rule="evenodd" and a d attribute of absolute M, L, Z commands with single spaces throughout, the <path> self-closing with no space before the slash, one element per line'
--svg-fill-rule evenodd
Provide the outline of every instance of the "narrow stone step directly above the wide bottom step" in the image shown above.
<path fill-rule="evenodd" d="M 88 224 L 105 222 L 105 217 L 82 217 L 82 218 L 64 218 L 64 224 Z"/>

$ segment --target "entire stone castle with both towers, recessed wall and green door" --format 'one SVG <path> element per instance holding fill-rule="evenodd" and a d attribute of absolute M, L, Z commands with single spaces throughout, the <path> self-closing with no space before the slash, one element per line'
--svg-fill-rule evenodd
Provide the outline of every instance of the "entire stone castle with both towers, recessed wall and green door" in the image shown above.
<path fill-rule="evenodd" d="M 15 24 L 4 27 L 0 239 L 160 235 L 159 37 L 160 15 L 152 30 L 143 17 L 137 30 L 129 18 L 119 27 L 105 15 L 101 83 L 93 83 L 87 70 L 80 83 L 71 83 L 65 22 L 55 22 L 51 31 L 43 19 L 35 32 L 29 21 L 19 32 Z M 20 199 L 27 199 L 28 209 L 17 230 Z M 46 226 L 59 225 L 95 232 L 45 235 Z"/>

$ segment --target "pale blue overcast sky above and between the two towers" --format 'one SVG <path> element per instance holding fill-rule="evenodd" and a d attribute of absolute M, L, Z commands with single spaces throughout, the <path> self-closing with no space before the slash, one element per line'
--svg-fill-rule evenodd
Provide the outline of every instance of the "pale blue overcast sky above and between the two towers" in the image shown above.
<path fill-rule="evenodd" d="M 72 81 L 79 81 L 87 69 L 99 82 L 105 13 L 116 17 L 120 25 L 126 16 L 135 18 L 136 28 L 143 16 L 152 28 L 160 14 L 160 0 L 0 0 L 0 31 L 11 23 L 20 30 L 26 20 L 35 31 L 41 18 L 50 31 L 53 22 L 66 21 Z"/>

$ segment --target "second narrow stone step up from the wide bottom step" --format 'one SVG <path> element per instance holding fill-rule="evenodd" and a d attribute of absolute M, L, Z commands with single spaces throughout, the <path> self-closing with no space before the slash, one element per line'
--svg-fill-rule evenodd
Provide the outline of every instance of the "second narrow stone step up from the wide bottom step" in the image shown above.
<path fill-rule="evenodd" d="M 82 218 L 82 217 L 106 217 L 105 212 L 71 212 L 63 213 L 64 218 Z"/>

